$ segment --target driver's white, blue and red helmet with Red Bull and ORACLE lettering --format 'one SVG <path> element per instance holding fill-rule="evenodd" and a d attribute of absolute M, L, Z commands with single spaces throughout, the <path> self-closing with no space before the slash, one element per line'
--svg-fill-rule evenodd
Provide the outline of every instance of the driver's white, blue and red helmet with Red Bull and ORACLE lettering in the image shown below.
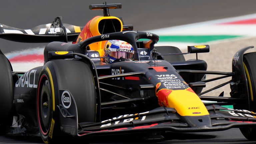
<path fill-rule="evenodd" d="M 133 47 L 129 43 L 121 40 L 109 40 L 104 46 L 105 62 L 113 63 L 119 61 L 132 61 Z"/>

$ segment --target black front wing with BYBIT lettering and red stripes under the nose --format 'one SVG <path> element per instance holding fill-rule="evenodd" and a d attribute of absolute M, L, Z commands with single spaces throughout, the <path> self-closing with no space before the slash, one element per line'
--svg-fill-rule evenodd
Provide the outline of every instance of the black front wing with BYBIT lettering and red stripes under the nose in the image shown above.
<path fill-rule="evenodd" d="M 206 108 L 210 114 L 211 126 L 190 126 L 186 122 L 187 119 L 183 119 L 175 109 L 159 107 L 144 113 L 118 116 L 100 123 L 79 123 L 80 129 L 77 135 L 94 136 L 152 131 L 207 132 L 256 127 L 254 112 L 233 110 L 219 105 Z"/>

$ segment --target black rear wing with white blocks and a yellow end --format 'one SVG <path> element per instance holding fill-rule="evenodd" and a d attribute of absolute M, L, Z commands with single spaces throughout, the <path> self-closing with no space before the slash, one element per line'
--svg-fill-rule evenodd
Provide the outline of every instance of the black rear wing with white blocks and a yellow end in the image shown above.
<path fill-rule="evenodd" d="M 44 43 L 52 41 L 75 41 L 83 26 L 63 24 L 62 17 L 56 17 L 52 23 L 31 29 L 19 29 L 0 23 L 0 38 L 25 43 Z"/>

